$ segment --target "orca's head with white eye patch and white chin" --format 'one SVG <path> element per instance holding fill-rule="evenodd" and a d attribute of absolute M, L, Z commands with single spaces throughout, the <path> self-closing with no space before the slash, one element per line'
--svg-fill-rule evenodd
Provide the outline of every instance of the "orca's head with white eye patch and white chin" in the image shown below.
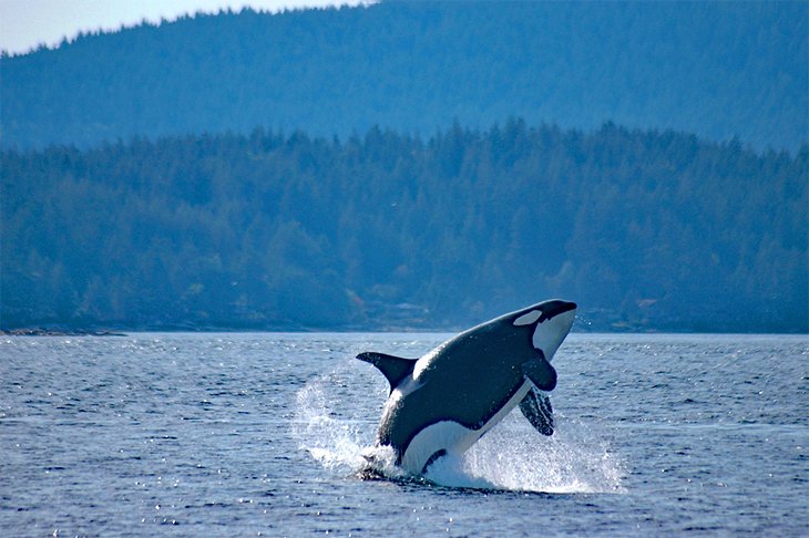
<path fill-rule="evenodd" d="M 571 331 L 576 317 L 576 303 L 553 299 L 520 310 L 513 314 L 514 327 L 530 327 L 531 343 L 541 350 L 546 361 L 553 359 L 562 341 Z"/>

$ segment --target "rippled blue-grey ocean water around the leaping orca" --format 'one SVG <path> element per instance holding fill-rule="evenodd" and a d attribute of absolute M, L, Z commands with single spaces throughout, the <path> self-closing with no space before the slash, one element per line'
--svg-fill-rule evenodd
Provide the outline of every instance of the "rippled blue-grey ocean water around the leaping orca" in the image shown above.
<path fill-rule="evenodd" d="M 0 338 L 3 536 L 809 536 L 809 337 L 571 334 L 429 480 L 359 477 L 387 382 L 447 334 Z"/>

